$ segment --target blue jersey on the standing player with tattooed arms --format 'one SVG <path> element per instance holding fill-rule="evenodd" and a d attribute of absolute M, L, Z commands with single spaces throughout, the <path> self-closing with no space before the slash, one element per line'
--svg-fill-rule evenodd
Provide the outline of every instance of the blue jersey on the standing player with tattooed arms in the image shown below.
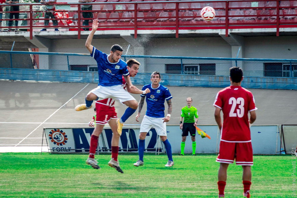
<path fill-rule="evenodd" d="M 158 88 L 153 89 L 152 84 L 147 84 L 142 87 L 142 90 L 145 90 L 146 88 L 149 88 L 151 92 L 140 95 L 141 97 L 146 96 L 146 115 L 149 117 L 165 117 L 165 99 L 170 100 L 172 98 L 172 95 L 170 94 L 168 88 L 159 84 Z"/>

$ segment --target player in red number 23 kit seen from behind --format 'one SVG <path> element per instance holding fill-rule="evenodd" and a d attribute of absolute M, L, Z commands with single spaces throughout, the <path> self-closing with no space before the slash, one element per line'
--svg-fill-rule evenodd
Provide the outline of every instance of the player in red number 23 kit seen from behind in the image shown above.
<path fill-rule="evenodd" d="M 253 150 L 249 127 L 256 120 L 255 110 L 257 108 L 252 93 L 241 87 L 242 80 L 242 69 L 231 67 L 231 86 L 219 91 L 214 101 L 216 107 L 214 117 L 221 131 L 220 150 L 217 157 L 217 162 L 220 163 L 218 174 L 219 197 L 224 197 L 228 165 L 233 164 L 234 159 L 236 159 L 236 165 L 242 166 L 243 169 L 244 197 L 250 197 Z M 224 114 L 224 125 L 222 125 L 221 110 Z"/>

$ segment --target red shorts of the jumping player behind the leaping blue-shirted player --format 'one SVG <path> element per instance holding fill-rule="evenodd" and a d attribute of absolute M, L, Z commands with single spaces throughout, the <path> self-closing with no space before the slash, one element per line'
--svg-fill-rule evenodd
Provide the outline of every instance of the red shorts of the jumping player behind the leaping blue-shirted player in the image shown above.
<path fill-rule="evenodd" d="M 96 103 L 96 124 L 105 125 L 110 119 L 118 119 L 114 106 Z"/>

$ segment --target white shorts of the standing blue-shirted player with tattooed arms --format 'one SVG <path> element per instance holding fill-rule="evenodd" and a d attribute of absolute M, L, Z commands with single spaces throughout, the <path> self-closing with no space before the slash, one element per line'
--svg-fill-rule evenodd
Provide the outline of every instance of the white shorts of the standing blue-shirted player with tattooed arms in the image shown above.
<path fill-rule="evenodd" d="M 140 133 L 149 132 L 154 127 L 159 136 L 167 136 L 166 122 L 162 120 L 164 117 L 149 117 L 145 115 L 141 122 Z"/>

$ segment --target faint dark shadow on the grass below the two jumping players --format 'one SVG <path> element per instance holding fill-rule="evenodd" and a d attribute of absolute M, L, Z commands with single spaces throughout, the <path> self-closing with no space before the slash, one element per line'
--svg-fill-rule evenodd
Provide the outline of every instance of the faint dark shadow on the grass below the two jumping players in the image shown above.
<path fill-rule="evenodd" d="M 107 188 L 111 190 L 118 190 L 118 191 L 125 191 L 125 190 L 135 190 L 135 191 L 149 191 L 153 187 L 149 186 L 136 186 L 132 183 L 125 183 L 121 181 L 112 181 L 111 183 L 101 183 L 101 182 L 92 182 L 94 186 L 97 186 L 98 188 Z"/>

